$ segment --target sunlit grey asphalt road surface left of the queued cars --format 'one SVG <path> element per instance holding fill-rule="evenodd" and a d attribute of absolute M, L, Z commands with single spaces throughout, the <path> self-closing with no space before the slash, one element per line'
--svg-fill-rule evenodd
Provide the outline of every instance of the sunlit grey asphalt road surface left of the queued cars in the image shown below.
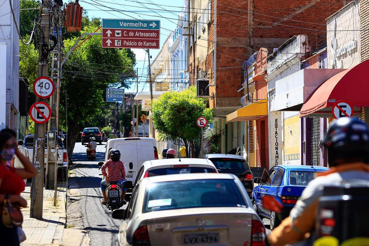
<path fill-rule="evenodd" d="M 101 171 L 98 162 L 104 161 L 105 144 L 97 145 L 96 159 L 94 162 L 86 161 L 86 147 L 76 143 L 73 150 L 73 163 L 78 163 L 75 172 L 81 195 L 80 205 L 83 215 L 85 230 L 89 232 L 91 245 L 117 245 L 118 229 L 121 221 L 111 218 L 111 211 L 101 205 L 100 182 Z M 127 205 L 125 205 L 126 207 Z M 125 208 L 123 207 L 123 208 Z"/>

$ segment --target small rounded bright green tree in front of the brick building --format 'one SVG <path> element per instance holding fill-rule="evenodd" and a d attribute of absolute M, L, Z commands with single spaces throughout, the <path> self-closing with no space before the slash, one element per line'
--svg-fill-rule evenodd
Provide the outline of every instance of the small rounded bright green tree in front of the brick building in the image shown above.
<path fill-rule="evenodd" d="M 194 142 L 200 137 L 201 130 L 205 130 L 205 127 L 197 126 L 196 120 L 204 117 L 210 124 L 213 118 L 213 111 L 207 108 L 207 104 L 208 99 L 196 96 L 194 86 L 179 92 L 163 93 L 150 104 L 153 124 L 162 138 L 172 141 L 182 139 L 186 145 L 187 157 L 190 156 L 188 146 L 194 157 Z"/>

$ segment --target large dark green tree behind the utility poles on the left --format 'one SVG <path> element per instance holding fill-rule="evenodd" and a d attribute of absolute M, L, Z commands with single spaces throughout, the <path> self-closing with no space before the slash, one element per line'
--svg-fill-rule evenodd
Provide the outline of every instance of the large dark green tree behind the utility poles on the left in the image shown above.
<path fill-rule="evenodd" d="M 90 21 L 83 32 L 93 32 L 99 25 L 100 21 Z M 76 39 L 64 41 L 66 51 Z M 101 48 L 101 37 L 92 36 L 75 49 L 63 65 L 59 128 L 67 130 L 68 127 L 70 159 L 80 131 L 101 114 L 106 104 L 106 88 L 128 88 L 127 79 L 135 76 L 131 72 L 135 59 L 130 55 L 129 49 Z"/>

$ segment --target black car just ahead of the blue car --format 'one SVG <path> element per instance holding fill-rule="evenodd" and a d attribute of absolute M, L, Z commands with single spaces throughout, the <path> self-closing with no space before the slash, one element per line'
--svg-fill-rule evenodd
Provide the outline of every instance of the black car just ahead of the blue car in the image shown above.
<path fill-rule="evenodd" d="M 219 173 L 232 173 L 236 175 L 244 184 L 244 187 L 251 197 L 254 189 L 254 176 L 252 175 L 249 163 L 243 156 L 228 154 L 208 154 L 205 159 L 211 160 Z"/>

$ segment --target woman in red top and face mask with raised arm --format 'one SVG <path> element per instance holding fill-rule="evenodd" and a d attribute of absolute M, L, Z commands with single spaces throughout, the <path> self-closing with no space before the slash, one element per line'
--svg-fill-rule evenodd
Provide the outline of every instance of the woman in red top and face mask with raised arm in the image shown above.
<path fill-rule="evenodd" d="M 24 165 L 24 169 L 15 169 L 10 166 L 13 156 L 17 155 Z M 22 155 L 17 148 L 17 143 L 8 133 L 0 133 L 0 214 L 3 212 L 4 198 L 8 196 L 12 204 L 19 204 L 20 207 L 27 207 L 27 201 L 21 196 L 25 184 L 23 179 L 28 179 L 37 174 L 37 169 L 32 163 Z M 0 240 L 1 245 L 18 246 L 19 238 L 17 227 L 7 228 L 0 219 Z"/>

